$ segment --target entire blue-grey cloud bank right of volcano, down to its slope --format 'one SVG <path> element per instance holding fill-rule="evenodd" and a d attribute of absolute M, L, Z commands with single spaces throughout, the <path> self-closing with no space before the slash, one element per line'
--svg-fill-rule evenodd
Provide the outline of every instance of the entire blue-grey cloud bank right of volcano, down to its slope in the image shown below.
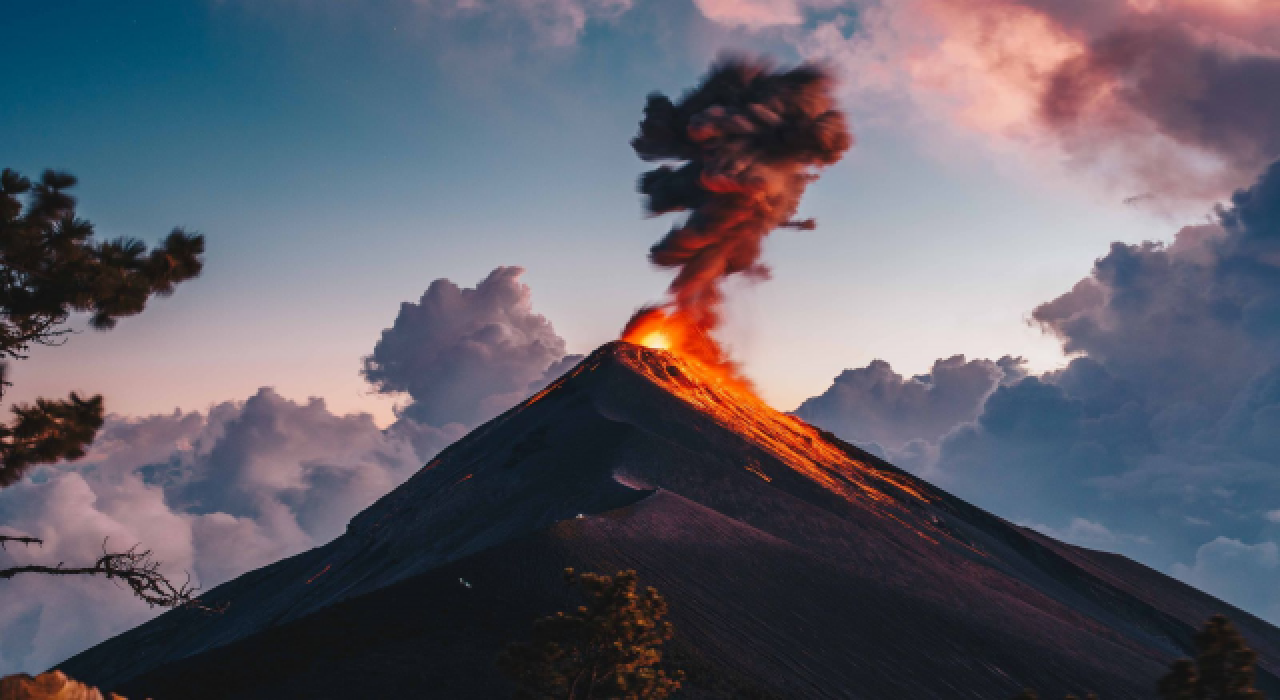
<path fill-rule="evenodd" d="M 1280 621 L 1280 163 L 1171 244 L 1112 244 L 1033 319 L 1078 357 L 992 384 L 972 420 L 919 420 L 946 413 L 919 398 L 937 367 L 902 380 L 878 363 L 841 375 L 808 417 L 887 443 L 891 459 L 1005 517 Z M 914 439 L 883 427 L 896 420 Z"/>

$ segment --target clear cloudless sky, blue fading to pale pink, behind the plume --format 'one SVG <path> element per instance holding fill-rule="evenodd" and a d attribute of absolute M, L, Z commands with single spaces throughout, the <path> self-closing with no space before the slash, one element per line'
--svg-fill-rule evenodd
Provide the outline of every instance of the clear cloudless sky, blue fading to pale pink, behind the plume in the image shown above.
<path fill-rule="evenodd" d="M 102 234 L 209 237 L 201 280 L 15 369 L 17 398 L 79 388 L 125 413 L 273 385 L 389 420 L 360 357 L 430 280 L 495 265 L 527 269 L 571 349 L 611 339 L 666 284 L 644 256 L 669 223 L 641 218 L 627 146 L 644 96 L 678 92 L 719 47 L 794 59 L 676 1 L 571 45 L 394 1 L 23 3 L 0 32 L 38 56 L 0 78 L 6 166 L 77 174 Z M 1106 242 L 1172 230 L 1128 191 L 847 106 L 859 145 L 804 203 L 820 228 L 773 237 L 774 280 L 744 290 L 727 335 L 780 407 L 873 357 L 1053 366 L 1029 310 Z"/>

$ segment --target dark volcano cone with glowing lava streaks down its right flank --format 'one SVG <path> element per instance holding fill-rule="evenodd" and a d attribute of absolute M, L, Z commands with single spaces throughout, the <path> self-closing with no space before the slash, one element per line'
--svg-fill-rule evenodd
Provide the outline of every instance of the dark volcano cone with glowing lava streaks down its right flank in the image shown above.
<path fill-rule="evenodd" d="M 1123 557 L 1016 527 L 705 379 L 611 343 L 476 429 L 328 545 L 60 668 L 129 697 L 509 696 L 494 658 L 635 568 L 686 697 L 1153 697 L 1212 613 L 1280 694 L 1280 630 Z"/>

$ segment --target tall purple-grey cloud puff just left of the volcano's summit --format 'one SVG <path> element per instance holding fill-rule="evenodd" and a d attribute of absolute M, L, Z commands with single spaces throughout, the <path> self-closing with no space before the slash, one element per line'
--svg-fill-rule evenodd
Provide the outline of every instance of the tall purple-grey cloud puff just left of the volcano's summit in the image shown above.
<path fill-rule="evenodd" d="M 365 358 L 383 393 L 407 393 L 402 417 L 443 426 L 477 425 L 529 395 L 564 357 L 564 340 L 532 311 L 521 267 L 498 267 L 474 289 L 438 279 L 404 302 Z"/>

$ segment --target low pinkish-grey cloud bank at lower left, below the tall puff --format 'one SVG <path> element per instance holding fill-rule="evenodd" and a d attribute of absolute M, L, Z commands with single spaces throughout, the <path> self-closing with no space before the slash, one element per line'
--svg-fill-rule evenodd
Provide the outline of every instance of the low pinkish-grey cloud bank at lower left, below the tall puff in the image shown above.
<path fill-rule="evenodd" d="M 369 415 L 262 389 L 207 413 L 111 416 L 90 453 L 0 491 L 6 532 L 45 540 L 0 566 L 91 562 L 141 543 L 204 587 L 340 534 L 422 463 Z M 0 596 L 0 673 L 46 668 L 155 614 L 101 580 L 17 577 Z"/>

